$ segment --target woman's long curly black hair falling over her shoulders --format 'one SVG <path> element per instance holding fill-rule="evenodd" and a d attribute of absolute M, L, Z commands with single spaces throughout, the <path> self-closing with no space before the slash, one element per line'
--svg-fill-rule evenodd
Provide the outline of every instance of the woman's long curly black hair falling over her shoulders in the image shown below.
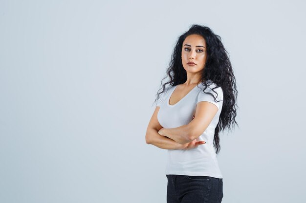
<path fill-rule="evenodd" d="M 214 147 L 216 148 L 216 154 L 218 154 L 220 150 L 219 131 L 224 130 L 225 128 L 231 130 L 231 126 L 235 127 L 235 124 L 238 125 L 235 120 L 237 115 L 236 107 L 238 107 L 236 104 L 238 96 L 236 79 L 233 74 L 231 62 L 227 55 L 228 52 L 225 50 L 221 42 L 221 37 L 214 34 L 209 27 L 198 24 L 191 25 L 190 29 L 178 37 L 176 42 L 169 68 L 167 69 L 167 75 L 170 77 L 170 81 L 162 84 L 162 81 L 167 78 L 166 75 L 161 81 L 162 88 L 158 91 L 162 89 L 162 92 L 164 92 L 165 89 L 186 82 L 187 73 L 182 65 L 181 53 L 185 38 L 194 34 L 202 36 L 206 40 L 207 46 L 207 59 L 201 74 L 201 81 L 204 85 L 203 92 L 205 92 L 208 87 L 206 84 L 207 80 L 211 80 L 215 83 L 217 85 L 216 88 L 221 87 L 223 92 L 222 110 L 214 135 Z M 167 84 L 170 84 L 170 87 L 166 88 L 165 86 Z M 156 94 L 157 98 L 155 99 L 155 102 L 159 99 L 159 95 L 162 92 Z"/>

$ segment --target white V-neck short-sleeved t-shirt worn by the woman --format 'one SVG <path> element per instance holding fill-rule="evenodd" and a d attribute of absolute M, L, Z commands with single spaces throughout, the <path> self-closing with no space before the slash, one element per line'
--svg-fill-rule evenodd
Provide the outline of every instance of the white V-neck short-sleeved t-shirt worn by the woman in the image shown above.
<path fill-rule="evenodd" d="M 223 178 L 213 146 L 215 128 L 219 122 L 219 115 L 223 105 L 221 87 L 214 89 L 218 96 L 217 93 L 212 91 L 212 88 L 216 87 L 215 83 L 209 85 L 205 90 L 205 92 L 211 92 L 215 97 L 217 96 L 216 100 L 219 102 L 215 102 L 212 95 L 204 93 L 204 85 L 200 83 L 176 104 L 170 105 L 169 98 L 176 87 L 177 85 L 165 89 L 165 92 L 160 94 L 156 103 L 156 106 L 160 107 L 157 120 L 163 128 L 176 128 L 190 123 L 195 115 L 197 103 L 200 101 L 211 102 L 219 110 L 207 129 L 197 138 L 197 141 L 204 140 L 205 144 L 187 150 L 168 149 L 165 174 Z"/>

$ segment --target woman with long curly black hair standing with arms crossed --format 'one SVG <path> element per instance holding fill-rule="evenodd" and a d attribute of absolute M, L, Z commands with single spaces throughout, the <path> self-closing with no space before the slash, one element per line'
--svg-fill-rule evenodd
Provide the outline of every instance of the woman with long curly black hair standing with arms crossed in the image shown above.
<path fill-rule="evenodd" d="M 158 93 L 146 133 L 147 144 L 168 149 L 167 203 L 222 201 L 219 131 L 237 124 L 238 94 L 226 53 L 221 38 L 201 25 L 192 25 L 176 43 L 167 70 L 171 80 Z"/>

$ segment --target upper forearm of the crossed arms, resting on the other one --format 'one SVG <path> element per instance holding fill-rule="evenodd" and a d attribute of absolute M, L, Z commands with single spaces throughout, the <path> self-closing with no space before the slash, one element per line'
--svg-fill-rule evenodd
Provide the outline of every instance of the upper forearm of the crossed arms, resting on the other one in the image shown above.
<path fill-rule="evenodd" d="M 190 140 L 190 128 L 189 125 L 182 125 L 177 128 L 160 129 L 158 131 L 160 135 L 166 136 L 179 144 L 189 143 Z"/>

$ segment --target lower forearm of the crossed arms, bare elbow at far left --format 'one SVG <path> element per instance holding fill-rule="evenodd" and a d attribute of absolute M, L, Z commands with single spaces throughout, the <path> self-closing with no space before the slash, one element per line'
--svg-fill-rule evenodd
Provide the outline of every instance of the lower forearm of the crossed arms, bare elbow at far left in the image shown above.
<path fill-rule="evenodd" d="M 151 129 L 149 133 L 149 142 L 148 144 L 154 145 L 162 149 L 183 149 L 184 145 L 175 142 L 174 140 L 158 134 L 157 130 Z"/>

